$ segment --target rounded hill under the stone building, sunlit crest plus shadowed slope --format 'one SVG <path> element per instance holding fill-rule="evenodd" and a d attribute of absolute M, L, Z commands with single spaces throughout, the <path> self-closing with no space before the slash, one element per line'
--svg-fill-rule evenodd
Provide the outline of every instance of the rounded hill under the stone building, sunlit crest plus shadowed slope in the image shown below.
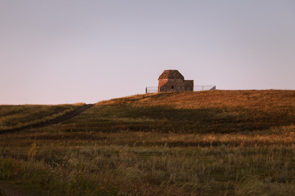
<path fill-rule="evenodd" d="M 294 125 L 295 91 L 155 93 L 96 103 L 64 130 L 232 133 Z"/>

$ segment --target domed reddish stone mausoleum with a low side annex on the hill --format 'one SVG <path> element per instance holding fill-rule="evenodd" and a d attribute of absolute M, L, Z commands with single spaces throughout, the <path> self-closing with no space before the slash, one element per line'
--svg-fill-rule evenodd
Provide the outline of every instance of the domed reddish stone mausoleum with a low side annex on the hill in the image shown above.
<path fill-rule="evenodd" d="M 158 81 L 158 92 L 194 91 L 194 81 L 185 80 L 178 70 L 164 70 Z"/>

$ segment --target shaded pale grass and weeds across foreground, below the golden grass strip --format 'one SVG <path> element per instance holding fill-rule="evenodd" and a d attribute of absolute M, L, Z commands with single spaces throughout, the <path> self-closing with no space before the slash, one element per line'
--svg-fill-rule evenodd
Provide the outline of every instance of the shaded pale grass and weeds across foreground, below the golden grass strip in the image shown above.
<path fill-rule="evenodd" d="M 2 157 L 1 179 L 17 181 L 28 191 L 34 187 L 54 195 L 83 195 L 87 191 L 96 195 L 295 193 L 293 144 L 60 145 L 47 146 L 56 161 Z"/>

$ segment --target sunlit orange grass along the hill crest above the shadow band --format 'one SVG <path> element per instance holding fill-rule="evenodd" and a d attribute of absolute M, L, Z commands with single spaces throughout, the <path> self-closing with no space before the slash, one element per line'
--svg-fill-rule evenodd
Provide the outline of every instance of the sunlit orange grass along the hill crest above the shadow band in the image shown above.
<path fill-rule="evenodd" d="M 295 91 L 291 90 L 237 90 L 237 91 L 199 91 L 154 93 L 128 96 L 101 101 L 97 105 L 132 105 L 145 107 L 173 108 L 261 108 L 273 110 L 273 107 L 295 106 Z"/>

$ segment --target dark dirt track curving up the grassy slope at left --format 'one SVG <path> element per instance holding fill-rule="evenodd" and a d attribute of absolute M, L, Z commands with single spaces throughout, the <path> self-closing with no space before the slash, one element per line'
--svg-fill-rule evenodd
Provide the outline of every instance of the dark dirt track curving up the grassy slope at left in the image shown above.
<path fill-rule="evenodd" d="M 32 125 L 32 126 L 28 126 L 28 127 L 23 127 L 23 128 L 18 128 L 18 129 L 12 129 L 12 130 L 6 130 L 6 131 L 2 131 L 0 132 L 0 134 L 7 134 L 7 133 L 15 133 L 18 131 L 22 131 L 22 130 L 27 130 L 27 129 L 32 129 L 32 128 L 39 128 L 39 127 L 46 127 L 48 125 L 53 125 L 53 124 L 57 124 L 60 123 L 62 121 L 71 119 L 73 117 L 75 117 L 76 115 L 88 110 L 89 108 L 91 108 L 94 104 L 86 104 L 81 108 L 78 108 L 76 110 L 73 110 L 65 115 L 62 115 L 58 118 L 55 118 L 53 120 L 47 121 L 45 123 L 41 123 L 41 124 L 37 124 L 37 125 Z"/>

